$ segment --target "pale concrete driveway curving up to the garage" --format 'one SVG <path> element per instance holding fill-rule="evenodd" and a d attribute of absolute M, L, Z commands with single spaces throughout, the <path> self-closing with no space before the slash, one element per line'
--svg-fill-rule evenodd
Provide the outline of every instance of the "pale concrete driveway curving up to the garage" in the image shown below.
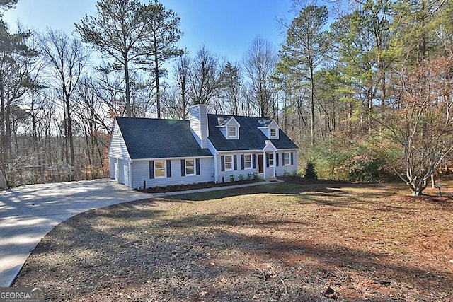
<path fill-rule="evenodd" d="M 30 252 L 58 223 L 89 209 L 149 197 L 107 179 L 0 192 L 0 286 L 11 286 Z"/>

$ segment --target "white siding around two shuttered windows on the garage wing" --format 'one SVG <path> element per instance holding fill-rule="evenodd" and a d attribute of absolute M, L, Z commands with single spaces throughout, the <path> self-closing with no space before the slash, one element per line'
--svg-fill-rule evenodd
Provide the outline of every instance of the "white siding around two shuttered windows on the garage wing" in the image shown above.
<path fill-rule="evenodd" d="M 159 158 L 157 160 L 167 160 L 169 158 Z M 181 176 L 180 160 L 184 158 L 171 159 L 171 177 L 149 178 L 149 161 L 133 161 L 131 165 L 132 186 L 131 189 L 143 187 L 146 182 L 147 187 L 166 187 L 168 185 L 188 185 L 195 182 L 214 181 L 214 161 L 211 158 L 200 158 L 200 175 Z M 193 159 L 193 158 L 187 158 Z"/>

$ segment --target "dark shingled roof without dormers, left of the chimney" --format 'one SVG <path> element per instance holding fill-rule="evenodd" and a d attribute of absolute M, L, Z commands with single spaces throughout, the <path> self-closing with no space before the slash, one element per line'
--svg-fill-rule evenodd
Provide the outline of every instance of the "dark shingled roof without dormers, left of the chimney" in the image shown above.
<path fill-rule="evenodd" d="M 201 149 L 188 120 L 116 117 L 132 159 L 212 156 Z"/>

